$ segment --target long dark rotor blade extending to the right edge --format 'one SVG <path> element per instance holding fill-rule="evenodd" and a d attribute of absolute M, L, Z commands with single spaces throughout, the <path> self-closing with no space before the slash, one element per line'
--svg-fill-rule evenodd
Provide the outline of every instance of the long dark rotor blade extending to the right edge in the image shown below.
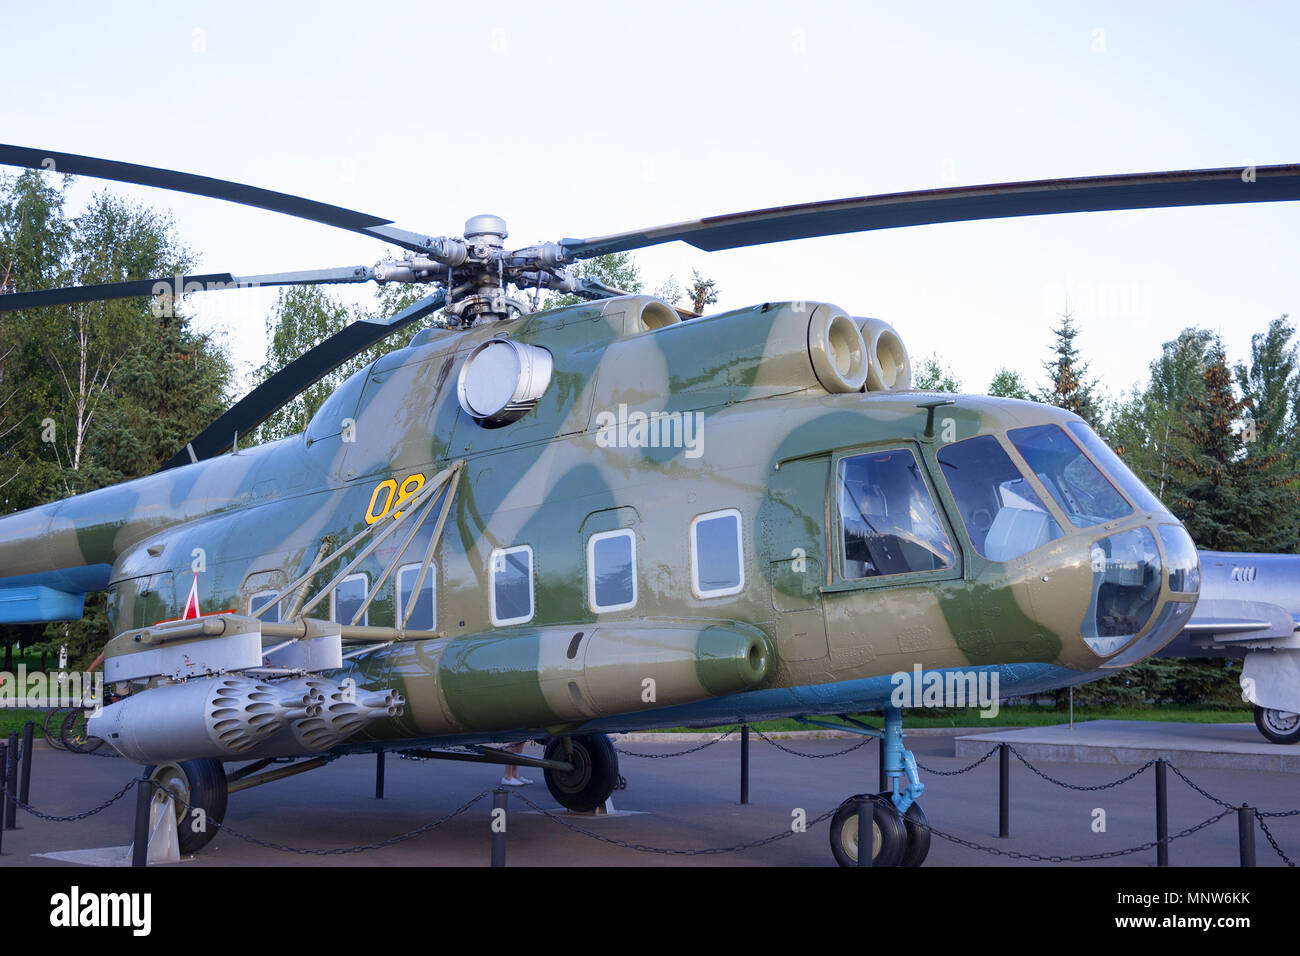
<path fill-rule="evenodd" d="M 1186 169 L 833 199 L 711 216 L 592 239 L 563 239 L 560 245 L 572 259 L 627 252 L 676 239 L 716 251 L 932 222 L 1294 199 L 1300 199 L 1300 165 Z"/>

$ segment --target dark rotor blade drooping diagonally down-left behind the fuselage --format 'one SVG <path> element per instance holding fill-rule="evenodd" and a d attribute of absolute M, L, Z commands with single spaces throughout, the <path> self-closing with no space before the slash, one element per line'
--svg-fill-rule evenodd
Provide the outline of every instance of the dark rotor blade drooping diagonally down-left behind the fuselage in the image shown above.
<path fill-rule="evenodd" d="M 394 316 L 377 321 L 360 319 L 342 332 L 337 332 L 235 402 L 221 418 L 204 428 L 194 441 L 168 459 L 160 471 L 220 455 L 234 444 L 237 434 L 247 434 L 294 401 L 304 389 L 318 382 L 350 358 L 359 355 L 416 319 L 438 311 L 446 299 L 446 290 L 439 289 L 407 306 Z"/>

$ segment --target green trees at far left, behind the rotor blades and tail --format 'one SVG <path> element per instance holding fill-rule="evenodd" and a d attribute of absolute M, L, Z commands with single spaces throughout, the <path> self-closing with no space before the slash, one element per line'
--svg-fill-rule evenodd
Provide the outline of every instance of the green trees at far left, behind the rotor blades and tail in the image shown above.
<path fill-rule="evenodd" d="M 57 185 L 55 185 L 57 182 Z M 0 178 L 0 285 L 12 291 L 186 271 L 170 220 L 110 193 L 75 216 L 68 179 Z M 159 300 L 153 300 L 155 303 Z M 148 298 L 0 313 L 0 511 L 147 475 L 224 410 L 229 356 L 187 317 Z M 0 628 L 9 644 L 69 645 L 69 663 L 108 637 L 103 594 L 83 620 Z"/>

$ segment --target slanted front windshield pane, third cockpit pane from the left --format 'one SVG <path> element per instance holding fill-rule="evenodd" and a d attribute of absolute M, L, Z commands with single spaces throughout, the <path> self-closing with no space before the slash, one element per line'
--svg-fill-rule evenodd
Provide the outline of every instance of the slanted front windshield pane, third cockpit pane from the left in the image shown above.
<path fill-rule="evenodd" d="M 1076 528 L 1132 514 L 1132 506 L 1060 425 L 1013 428 L 1006 437 Z"/>

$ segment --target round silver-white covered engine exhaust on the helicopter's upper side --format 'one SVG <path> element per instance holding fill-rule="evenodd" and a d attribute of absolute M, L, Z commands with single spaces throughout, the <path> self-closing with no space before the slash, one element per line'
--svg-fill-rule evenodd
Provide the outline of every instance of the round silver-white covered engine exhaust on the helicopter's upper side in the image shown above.
<path fill-rule="evenodd" d="M 484 342 L 460 367 L 460 407 L 484 428 L 519 421 L 551 382 L 551 354 L 508 338 Z"/>

